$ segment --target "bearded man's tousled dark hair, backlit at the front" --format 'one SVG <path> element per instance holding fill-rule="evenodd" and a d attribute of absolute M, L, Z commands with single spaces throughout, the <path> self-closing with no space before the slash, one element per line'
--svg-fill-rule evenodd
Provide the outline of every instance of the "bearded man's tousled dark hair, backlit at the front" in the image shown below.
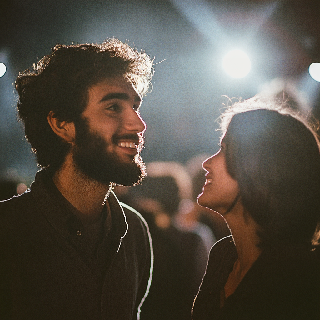
<path fill-rule="evenodd" d="M 88 89 L 103 78 L 124 76 L 143 96 L 152 89 L 153 61 L 118 39 L 103 44 L 57 44 L 32 70 L 19 74 L 15 88 L 18 112 L 38 165 L 60 167 L 69 144 L 51 129 L 47 116 L 77 121 L 87 104 Z"/>

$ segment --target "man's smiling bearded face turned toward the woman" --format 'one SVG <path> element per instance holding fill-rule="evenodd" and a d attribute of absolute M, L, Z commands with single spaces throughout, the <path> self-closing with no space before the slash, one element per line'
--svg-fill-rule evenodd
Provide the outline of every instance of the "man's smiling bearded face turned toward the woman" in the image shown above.
<path fill-rule="evenodd" d="M 89 89 L 76 125 L 74 164 L 92 179 L 130 186 L 145 176 L 140 152 L 146 124 L 141 97 L 123 77 L 104 79 Z"/>

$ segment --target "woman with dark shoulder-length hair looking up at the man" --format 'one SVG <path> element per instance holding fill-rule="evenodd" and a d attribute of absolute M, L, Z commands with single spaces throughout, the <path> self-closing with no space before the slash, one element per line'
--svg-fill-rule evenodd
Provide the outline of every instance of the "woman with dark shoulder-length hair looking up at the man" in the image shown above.
<path fill-rule="evenodd" d="M 258 96 L 228 108 L 220 126 L 198 203 L 219 212 L 232 236 L 211 249 L 193 320 L 319 319 L 314 130 L 285 102 Z"/>

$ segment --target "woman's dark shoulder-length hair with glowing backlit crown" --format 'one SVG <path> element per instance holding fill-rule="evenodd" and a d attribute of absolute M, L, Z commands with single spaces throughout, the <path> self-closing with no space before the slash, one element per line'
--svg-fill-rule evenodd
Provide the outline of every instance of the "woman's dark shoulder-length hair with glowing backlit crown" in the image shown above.
<path fill-rule="evenodd" d="M 235 103 L 220 118 L 227 168 L 261 227 L 261 246 L 319 244 L 319 140 L 307 120 L 285 101 L 258 96 Z"/>

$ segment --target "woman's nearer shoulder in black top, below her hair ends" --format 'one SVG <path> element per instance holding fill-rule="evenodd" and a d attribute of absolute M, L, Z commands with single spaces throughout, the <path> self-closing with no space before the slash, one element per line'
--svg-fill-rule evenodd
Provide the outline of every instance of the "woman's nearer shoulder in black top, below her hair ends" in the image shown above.
<path fill-rule="evenodd" d="M 226 318 L 319 319 L 319 259 L 303 246 L 264 248 L 232 296 Z"/>

